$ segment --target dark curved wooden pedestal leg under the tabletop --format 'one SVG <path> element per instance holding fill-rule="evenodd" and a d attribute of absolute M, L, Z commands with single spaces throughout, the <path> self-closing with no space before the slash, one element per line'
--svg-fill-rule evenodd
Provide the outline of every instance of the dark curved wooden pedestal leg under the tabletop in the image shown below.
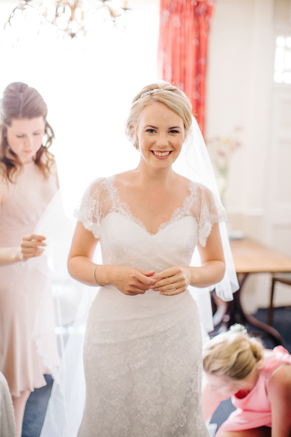
<path fill-rule="evenodd" d="M 256 326 L 257 328 L 265 331 L 272 337 L 275 345 L 282 345 L 283 339 L 281 335 L 276 331 L 276 329 L 272 328 L 272 326 L 267 325 L 267 323 L 260 322 L 255 317 L 247 314 L 241 305 L 240 294 L 243 288 L 243 284 L 248 277 L 248 273 L 244 273 L 238 275 L 240 288 L 233 294 L 233 300 L 227 302 L 227 309 L 225 311 L 225 316 L 223 316 L 223 322 L 226 324 L 226 327 L 229 329 L 234 323 L 245 324 L 249 322 L 251 325 Z"/>

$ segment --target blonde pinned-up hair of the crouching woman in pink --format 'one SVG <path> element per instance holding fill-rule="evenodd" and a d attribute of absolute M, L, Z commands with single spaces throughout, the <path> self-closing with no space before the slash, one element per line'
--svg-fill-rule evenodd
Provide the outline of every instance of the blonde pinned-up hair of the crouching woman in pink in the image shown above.
<path fill-rule="evenodd" d="M 263 358 L 264 346 L 246 332 L 221 333 L 203 347 L 206 373 L 226 380 L 242 380 L 250 375 Z"/>

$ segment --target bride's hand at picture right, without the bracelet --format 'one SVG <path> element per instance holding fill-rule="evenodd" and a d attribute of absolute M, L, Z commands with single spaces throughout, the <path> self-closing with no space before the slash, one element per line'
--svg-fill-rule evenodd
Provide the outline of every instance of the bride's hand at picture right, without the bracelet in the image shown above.
<path fill-rule="evenodd" d="M 160 295 L 178 295 L 183 293 L 188 285 L 194 282 L 192 274 L 193 267 L 170 267 L 169 269 L 153 276 L 154 279 L 157 280 L 157 283 L 150 288 L 154 291 L 160 291 Z"/>

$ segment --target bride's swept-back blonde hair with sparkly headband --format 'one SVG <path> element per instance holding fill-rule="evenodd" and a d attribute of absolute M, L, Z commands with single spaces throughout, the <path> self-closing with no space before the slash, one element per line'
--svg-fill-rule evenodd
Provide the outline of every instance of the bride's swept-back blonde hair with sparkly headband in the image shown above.
<path fill-rule="evenodd" d="M 152 94 L 147 94 L 142 96 L 142 94 L 152 91 Z M 154 102 L 159 102 L 166 105 L 171 111 L 179 115 L 184 123 L 185 134 L 187 134 L 191 123 L 192 123 L 192 106 L 183 91 L 179 90 L 177 87 L 171 85 L 168 82 L 157 82 L 147 85 L 134 97 L 131 103 L 130 112 L 126 121 L 125 133 L 127 138 L 133 143 L 133 146 L 138 150 L 138 143 L 133 133 L 133 128 L 136 128 L 140 118 L 140 114 L 143 109 L 153 104 Z"/>

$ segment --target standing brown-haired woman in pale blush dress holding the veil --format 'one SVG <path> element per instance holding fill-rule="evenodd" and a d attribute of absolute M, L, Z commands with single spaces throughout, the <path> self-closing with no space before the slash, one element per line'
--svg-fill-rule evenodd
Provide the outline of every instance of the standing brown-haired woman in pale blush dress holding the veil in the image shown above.
<path fill-rule="evenodd" d="M 45 236 L 32 232 L 58 191 L 54 132 L 47 105 L 26 83 L 10 83 L 0 101 L 0 371 L 7 379 L 21 436 L 30 392 L 46 385 L 32 330 L 45 275 L 26 263 Z"/>

